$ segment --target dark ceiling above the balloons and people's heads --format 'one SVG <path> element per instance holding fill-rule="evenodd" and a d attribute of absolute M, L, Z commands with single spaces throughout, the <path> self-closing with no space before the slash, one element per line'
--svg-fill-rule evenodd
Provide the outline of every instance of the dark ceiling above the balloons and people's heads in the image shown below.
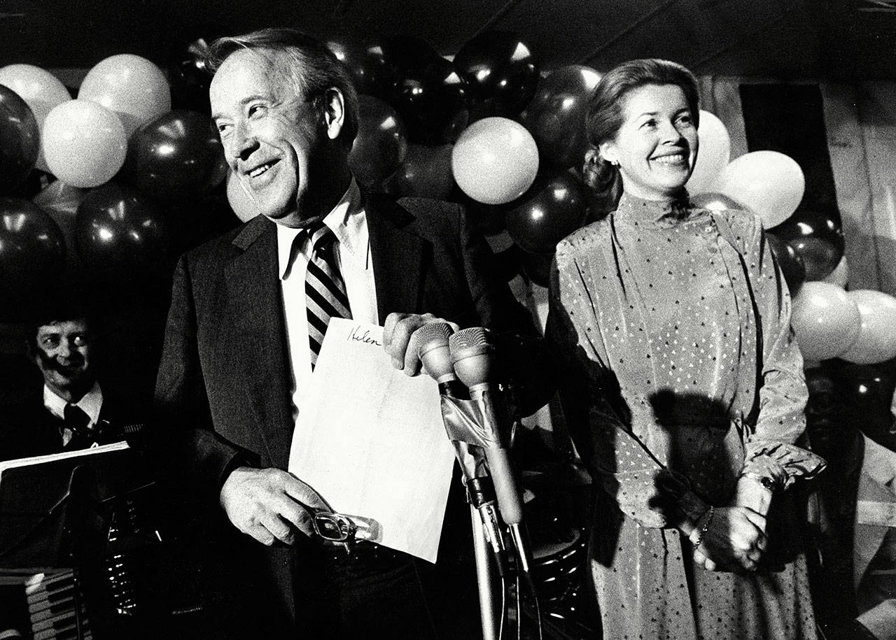
<path fill-rule="evenodd" d="M 444 55 L 479 30 L 514 30 L 545 68 L 662 56 L 700 74 L 896 80 L 896 0 L 0 0 L 0 64 L 134 53 L 163 65 L 195 38 L 273 25 L 409 34 Z"/>

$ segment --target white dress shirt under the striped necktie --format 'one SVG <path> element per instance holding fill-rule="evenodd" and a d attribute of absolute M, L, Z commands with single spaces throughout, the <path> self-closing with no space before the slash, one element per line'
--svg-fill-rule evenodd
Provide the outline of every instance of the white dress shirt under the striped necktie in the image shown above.
<path fill-rule="evenodd" d="M 336 239 L 336 263 L 346 293 L 353 320 L 379 324 L 376 311 L 374 268 L 370 256 L 366 211 L 361 205 L 358 183 L 352 178 L 349 189 L 339 203 L 323 218 Z M 308 345 L 308 315 L 305 306 L 305 275 L 311 259 L 311 243 L 294 247 L 299 229 L 277 226 L 277 251 L 280 265 L 280 290 L 289 342 L 289 363 L 292 373 L 292 417 L 298 416 L 308 383 L 311 380 L 311 347 Z"/>

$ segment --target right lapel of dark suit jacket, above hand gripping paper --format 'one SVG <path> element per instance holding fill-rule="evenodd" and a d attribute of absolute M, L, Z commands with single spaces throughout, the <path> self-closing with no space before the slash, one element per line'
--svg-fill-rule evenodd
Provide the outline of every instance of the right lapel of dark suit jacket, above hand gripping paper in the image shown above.
<path fill-rule="evenodd" d="M 392 199 L 368 196 L 365 209 L 380 324 L 392 311 L 419 313 L 428 243 L 413 232 L 415 218 Z"/>

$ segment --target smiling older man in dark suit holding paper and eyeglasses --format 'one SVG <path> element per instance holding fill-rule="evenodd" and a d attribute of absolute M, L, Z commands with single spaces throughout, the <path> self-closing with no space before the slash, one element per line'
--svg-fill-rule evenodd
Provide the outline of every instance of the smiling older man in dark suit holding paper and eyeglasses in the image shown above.
<path fill-rule="evenodd" d="M 262 30 L 220 38 L 209 64 L 231 179 L 261 215 L 180 260 L 156 400 L 197 509 L 242 533 L 211 579 L 243 587 L 220 601 L 224 631 L 480 635 L 462 499 L 449 500 L 435 567 L 365 542 L 346 557 L 314 541 L 308 508 L 323 501 L 285 469 L 329 317 L 382 324 L 393 363 L 415 374 L 424 324 L 530 332 L 530 316 L 460 206 L 358 188 L 358 98 L 323 44 Z"/>

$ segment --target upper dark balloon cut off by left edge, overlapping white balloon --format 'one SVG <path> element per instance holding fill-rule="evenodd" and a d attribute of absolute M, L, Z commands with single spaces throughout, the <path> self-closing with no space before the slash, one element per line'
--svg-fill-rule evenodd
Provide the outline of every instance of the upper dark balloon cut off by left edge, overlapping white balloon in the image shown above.
<path fill-rule="evenodd" d="M 28 103 L 0 85 L 0 193 L 12 193 L 34 168 L 40 133 Z"/>

